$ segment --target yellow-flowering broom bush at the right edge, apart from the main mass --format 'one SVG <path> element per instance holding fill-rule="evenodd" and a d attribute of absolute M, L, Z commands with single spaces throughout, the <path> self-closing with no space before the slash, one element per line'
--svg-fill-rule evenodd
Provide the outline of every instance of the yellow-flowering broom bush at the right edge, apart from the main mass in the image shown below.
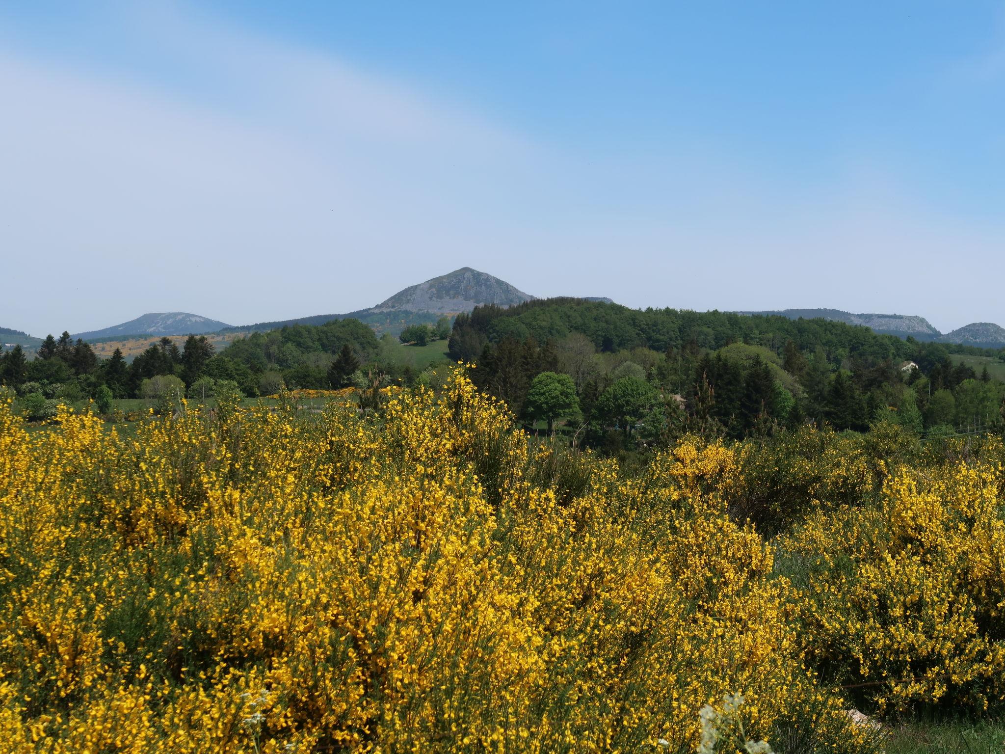
<path fill-rule="evenodd" d="M 1001 710 L 1003 479 L 1000 461 L 900 466 L 876 505 L 821 509 L 781 538 L 814 662 L 880 709 Z"/>

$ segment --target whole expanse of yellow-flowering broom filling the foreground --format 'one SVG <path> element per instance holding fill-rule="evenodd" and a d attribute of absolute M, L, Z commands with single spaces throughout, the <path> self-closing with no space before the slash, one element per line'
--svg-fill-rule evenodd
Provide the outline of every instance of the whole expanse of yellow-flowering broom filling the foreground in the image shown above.
<path fill-rule="evenodd" d="M 0 748 L 866 754 L 1001 712 L 1001 439 L 686 435 L 629 470 L 463 370 L 379 395 L 128 436 L 5 402 Z"/>

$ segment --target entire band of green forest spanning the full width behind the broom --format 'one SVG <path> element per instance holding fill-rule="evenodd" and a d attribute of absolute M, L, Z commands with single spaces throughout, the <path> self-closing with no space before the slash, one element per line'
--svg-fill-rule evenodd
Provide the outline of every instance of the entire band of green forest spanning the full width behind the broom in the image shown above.
<path fill-rule="evenodd" d="M 996 429 L 1005 411 L 1005 383 L 954 359 L 1005 363 L 1005 350 L 900 340 L 819 319 L 553 299 L 481 306 L 457 316 L 452 329 L 441 318 L 400 336 L 414 345 L 446 338 L 452 359 L 475 365 L 475 384 L 529 426 L 565 426 L 577 440 L 611 449 L 650 447 L 684 432 L 741 438 L 806 423 L 865 431 L 892 421 L 918 435 L 945 435 Z M 0 375 L 43 413 L 59 399 L 105 405 L 167 392 L 339 388 L 363 375 L 383 384 L 426 379 L 394 357 L 397 340 L 342 319 L 251 333 L 218 353 L 204 336 L 182 348 L 165 338 L 130 364 L 119 351 L 100 360 L 63 333 L 37 354 L 18 347 L 3 355 Z"/>

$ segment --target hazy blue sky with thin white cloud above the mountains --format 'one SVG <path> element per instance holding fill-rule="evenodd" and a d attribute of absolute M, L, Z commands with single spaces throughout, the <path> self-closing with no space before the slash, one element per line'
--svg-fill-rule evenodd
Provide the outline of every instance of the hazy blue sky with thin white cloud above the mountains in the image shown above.
<path fill-rule="evenodd" d="M 1005 5 L 0 5 L 0 326 L 240 325 L 469 265 L 1005 325 Z"/>

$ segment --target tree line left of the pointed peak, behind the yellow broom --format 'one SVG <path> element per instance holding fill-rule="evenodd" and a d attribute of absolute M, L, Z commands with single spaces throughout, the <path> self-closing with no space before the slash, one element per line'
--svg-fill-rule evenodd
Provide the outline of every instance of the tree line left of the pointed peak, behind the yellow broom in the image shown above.
<path fill-rule="evenodd" d="M 417 327 L 422 328 L 421 338 L 416 328 L 406 330 L 412 340 L 445 339 L 450 333 L 446 318 L 435 327 Z M 397 348 L 389 334 L 378 339 L 354 319 L 255 332 L 219 352 L 206 336 L 188 336 L 181 347 L 165 337 L 132 362 L 119 348 L 102 359 L 88 343 L 64 332 L 58 338 L 46 337 L 35 354 L 16 346 L 0 355 L 0 384 L 22 397 L 33 396 L 29 412 L 44 417 L 54 412 L 59 400 L 89 398 L 108 408 L 120 398 L 159 400 L 180 394 L 205 399 L 220 390 L 253 397 L 281 387 L 342 388 L 372 381 L 365 372 L 376 372 L 385 381 L 399 377 L 411 382 L 416 375 L 393 358 Z"/>

